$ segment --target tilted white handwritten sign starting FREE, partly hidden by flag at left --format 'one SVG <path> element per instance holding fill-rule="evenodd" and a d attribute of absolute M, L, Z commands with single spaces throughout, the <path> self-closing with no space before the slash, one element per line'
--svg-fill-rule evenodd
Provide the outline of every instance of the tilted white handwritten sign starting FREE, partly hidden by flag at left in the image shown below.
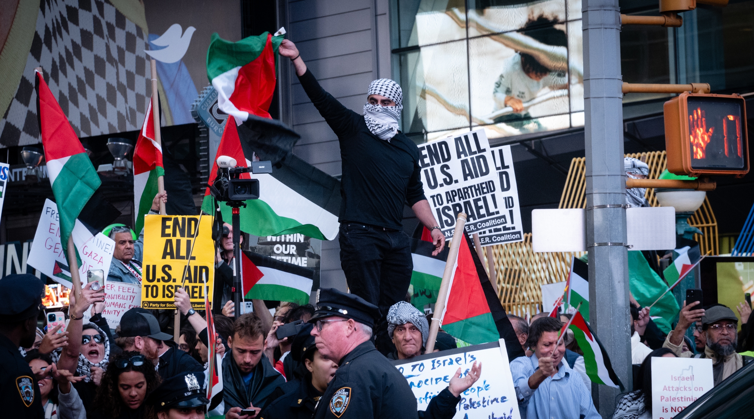
<path fill-rule="evenodd" d="M 78 219 L 71 236 L 78 251 L 78 257 L 81 258 L 78 263 L 81 284 L 85 283 L 88 270 L 103 270 L 107 279 L 112 252 L 115 251 L 115 242 L 103 233 L 93 234 Z M 60 243 L 57 205 L 49 199 L 44 201 L 44 208 L 39 217 L 37 232 L 26 263 L 67 288 L 72 288 L 71 272 L 66 259 L 66 245 Z"/>

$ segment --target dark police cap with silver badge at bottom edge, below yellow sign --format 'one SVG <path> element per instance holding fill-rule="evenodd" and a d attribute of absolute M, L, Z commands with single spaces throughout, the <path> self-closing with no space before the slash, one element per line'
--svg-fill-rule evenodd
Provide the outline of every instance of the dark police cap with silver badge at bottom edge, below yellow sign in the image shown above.
<path fill-rule="evenodd" d="M 158 411 L 195 408 L 209 402 L 204 390 L 204 373 L 196 371 L 182 372 L 164 380 L 146 399 L 146 404 L 155 406 Z"/>

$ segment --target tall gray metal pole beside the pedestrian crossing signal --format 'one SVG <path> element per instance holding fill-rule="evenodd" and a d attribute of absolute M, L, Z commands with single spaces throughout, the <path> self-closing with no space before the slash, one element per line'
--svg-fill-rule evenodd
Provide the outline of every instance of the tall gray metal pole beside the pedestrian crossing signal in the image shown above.
<path fill-rule="evenodd" d="M 623 166 L 621 14 L 618 0 L 584 0 L 584 137 L 590 325 L 627 390 L 631 374 L 626 173 Z M 599 292 L 598 292 L 599 290 Z M 620 390 L 592 384 L 602 417 Z"/>

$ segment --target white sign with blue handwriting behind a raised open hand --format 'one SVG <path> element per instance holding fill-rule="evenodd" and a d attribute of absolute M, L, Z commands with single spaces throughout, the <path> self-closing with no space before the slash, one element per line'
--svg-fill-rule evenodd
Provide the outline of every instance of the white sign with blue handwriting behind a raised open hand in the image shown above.
<path fill-rule="evenodd" d="M 516 388 L 508 366 L 504 340 L 443 350 L 411 359 L 393 361 L 416 397 L 418 410 L 427 409 L 458 368 L 467 374 L 474 361 L 482 362 L 482 374 L 474 386 L 461 393 L 454 419 L 520 419 Z"/>

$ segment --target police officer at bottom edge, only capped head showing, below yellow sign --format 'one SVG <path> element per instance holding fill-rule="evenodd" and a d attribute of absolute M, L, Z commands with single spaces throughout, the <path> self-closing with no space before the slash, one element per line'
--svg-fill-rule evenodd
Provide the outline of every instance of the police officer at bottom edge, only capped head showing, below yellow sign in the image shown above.
<path fill-rule="evenodd" d="M 203 372 L 182 372 L 164 380 L 147 396 L 159 419 L 204 419 L 207 390 Z"/>

